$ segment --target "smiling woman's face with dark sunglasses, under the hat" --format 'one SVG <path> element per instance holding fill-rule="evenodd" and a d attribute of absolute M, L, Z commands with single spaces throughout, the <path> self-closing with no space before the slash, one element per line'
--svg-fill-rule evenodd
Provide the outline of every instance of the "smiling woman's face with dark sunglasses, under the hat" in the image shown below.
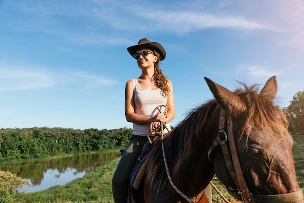
<path fill-rule="evenodd" d="M 143 51 L 148 51 L 148 53 Z M 157 61 L 157 56 L 154 55 L 151 49 L 141 48 L 138 49 L 136 53 L 142 53 L 139 55 L 139 58 L 136 59 L 139 68 L 154 68 L 154 63 Z"/>

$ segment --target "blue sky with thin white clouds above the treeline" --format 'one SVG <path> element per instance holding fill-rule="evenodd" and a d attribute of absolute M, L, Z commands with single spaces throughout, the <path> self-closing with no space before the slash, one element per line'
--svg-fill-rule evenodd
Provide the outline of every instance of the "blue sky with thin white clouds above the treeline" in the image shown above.
<path fill-rule="evenodd" d="M 0 0 L 0 128 L 131 128 L 124 88 L 141 71 L 126 48 L 144 37 L 167 52 L 173 126 L 213 98 L 203 77 L 234 90 L 276 75 L 287 107 L 303 36 L 303 0 Z"/>

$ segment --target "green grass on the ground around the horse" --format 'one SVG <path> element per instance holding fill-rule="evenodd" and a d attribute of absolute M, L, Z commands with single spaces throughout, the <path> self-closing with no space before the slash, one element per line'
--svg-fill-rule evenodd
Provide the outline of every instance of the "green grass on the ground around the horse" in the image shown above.
<path fill-rule="evenodd" d="M 295 169 L 298 182 L 304 191 L 304 135 L 293 136 L 297 142 L 293 147 Z M 16 203 L 114 203 L 112 197 L 112 177 L 120 158 L 95 169 L 64 186 L 53 186 L 50 189 L 27 194 L 17 194 Z M 227 192 L 218 179 L 212 182 L 229 200 L 235 199 Z M 214 203 L 224 203 L 220 195 L 212 189 Z"/>

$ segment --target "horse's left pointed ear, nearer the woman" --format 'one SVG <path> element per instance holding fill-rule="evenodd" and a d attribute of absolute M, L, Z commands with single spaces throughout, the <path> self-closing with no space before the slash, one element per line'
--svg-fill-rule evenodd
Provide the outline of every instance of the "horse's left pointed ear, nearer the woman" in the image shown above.
<path fill-rule="evenodd" d="M 220 106 L 230 114 L 239 114 L 246 110 L 246 105 L 237 97 L 235 93 L 225 87 L 214 83 L 209 78 L 204 77 L 210 91 Z"/>

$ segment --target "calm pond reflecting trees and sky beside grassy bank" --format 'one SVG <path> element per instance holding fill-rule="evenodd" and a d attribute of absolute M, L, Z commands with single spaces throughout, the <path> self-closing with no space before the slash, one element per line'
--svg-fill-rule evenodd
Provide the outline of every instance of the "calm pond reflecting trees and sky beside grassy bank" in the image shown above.
<path fill-rule="evenodd" d="M 27 193 L 65 185 L 118 157 L 119 151 L 83 153 L 56 159 L 1 163 L 0 170 L 10 171 L 28 180 L 34 187 L 19 188 L 19 192 Z"/>

